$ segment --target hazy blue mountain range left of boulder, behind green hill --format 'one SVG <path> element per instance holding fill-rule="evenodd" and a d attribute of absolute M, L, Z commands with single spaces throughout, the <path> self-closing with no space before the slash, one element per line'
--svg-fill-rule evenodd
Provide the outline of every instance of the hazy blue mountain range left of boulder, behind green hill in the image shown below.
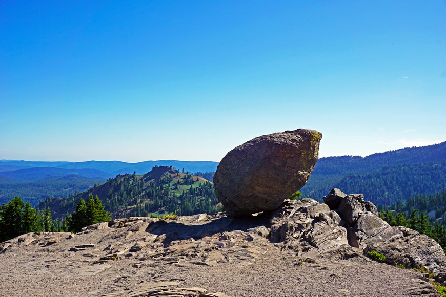
<path fill-rule="evenodd" d="M 183 172 L 214 172 L 218 162 L 158 160 L 139 163 L 120 161 L 41 162 L 0 160 L 0 204 L 14 196 L 33 205 L 47 196 L 76 195 L 94 184 L 119 174 L 147 173 L 155 166 L 172 166 Z"/>

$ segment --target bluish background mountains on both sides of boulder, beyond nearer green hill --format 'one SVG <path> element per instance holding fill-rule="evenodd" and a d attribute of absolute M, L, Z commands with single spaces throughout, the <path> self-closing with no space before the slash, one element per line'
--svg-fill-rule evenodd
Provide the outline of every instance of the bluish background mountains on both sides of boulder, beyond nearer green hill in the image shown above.
<path fill-rule="evenodd" d="M 376 153 L 367 157 L 320 158 L 305 197 L 321 201 L 334 187 L 347 194 L 363 193 L 366 200 L 390 205 L 416 194 L 434 194 L 446 188 L 446 142 Z M 139 163 L 120 161 L 34 162 L 0 160 L 0 204 L 15 195 L 33 205 L 46 196 L 76 195 L 118 174 L 137 175 L 156 166 L 172 166 L 179 172 L 197 174 L 212 181 L 218 162 L 158 160 Z"/>

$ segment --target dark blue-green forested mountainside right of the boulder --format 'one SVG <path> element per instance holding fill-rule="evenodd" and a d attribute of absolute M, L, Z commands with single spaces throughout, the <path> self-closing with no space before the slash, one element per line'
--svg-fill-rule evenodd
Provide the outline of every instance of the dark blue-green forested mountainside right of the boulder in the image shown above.
<path fill-rule="evenodd" d="M 336 187 L 345 193 L 363 193 L 375 204 L 390 205 L 415 194 L 443 190 L 445 161 L 446 142 L 367 157 L 320 158 L 301 192 L 321 201 Z"/>

